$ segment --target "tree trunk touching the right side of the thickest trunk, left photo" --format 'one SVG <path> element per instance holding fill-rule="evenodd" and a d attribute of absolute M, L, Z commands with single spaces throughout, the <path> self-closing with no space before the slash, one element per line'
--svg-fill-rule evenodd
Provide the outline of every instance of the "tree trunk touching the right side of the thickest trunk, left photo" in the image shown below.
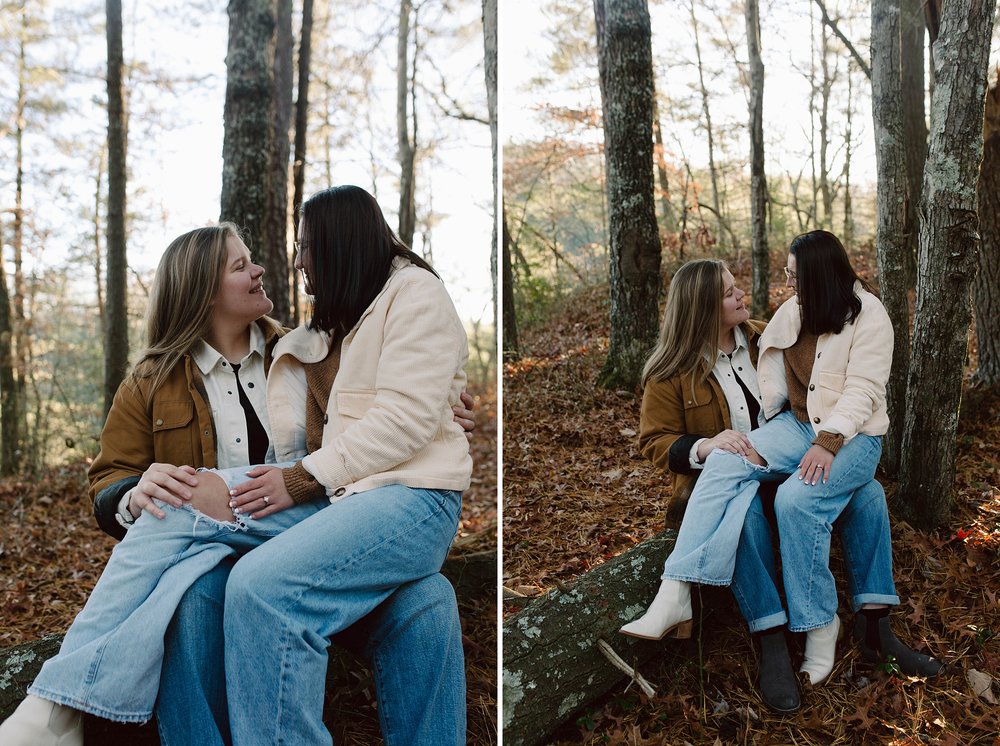
<path fill-rule="evenodd" d="M 275 5 L 274 62 L 271 79 L 270 178 L 267 190 L 264 257 L 264 281 L 267 296 L 274 303 L 271 316 L 284 325 L 291 323 L 288 300 L 288 162 L 292 120 L 292 0 L 277 0 Z"/>

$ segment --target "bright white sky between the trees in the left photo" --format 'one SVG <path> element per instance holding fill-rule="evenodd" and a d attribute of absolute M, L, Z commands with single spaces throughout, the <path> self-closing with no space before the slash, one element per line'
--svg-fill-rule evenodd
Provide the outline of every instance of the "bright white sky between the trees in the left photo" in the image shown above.
<path fill-rule="evenodd" d="M 51 5 L 58 12 L 59 8 L 76 3 L 56 0 Z M 202 2 L 198 5 L 209 4 Z M 176 11 L 184 10 L 183 2 L 150 0 L 125 3 L 126 63 L 141 59 L 151 63 L 154 69 L 168 71 L 174 78 L 204 77 L 197 86 L 180 86 L 179 95 L 175 96 L 158 94 L 150 85 L 133 86 L 129 93 L 133 97 L 133 111 L 152 106 L 163 112 L 153 121 L 138 121 L 137 117 L 133 117 L 130 124 L 129 210 L 140 212 L 144 222 L 141 229 L 132 231 L 128 249 L 130 266 L 140 273 L 155 268 L 160 253 L 171 239 L 192 227 L 214 222 L 219 217 L 228 17 L 224 2 L 214 5 L 216 7 L 210 8 L 209 12 L 188 14 L 185 18 L 193 16 L 194 20 L 184 20 L 182 25 Z M 455 5 L 455 12 L 466 19 L 478 18 L 481 12 L 477 2 Z M 165 11 L 169 12 L 165 15 Z M 373 15 L 379 13 L 374 9 L 367 12 Z M 367 38 L 367 34 L 374 30 L 371 18 L 343 18 L 340 21 L 339 28 L 344 30 L 345 35 L 354 34 L 358 40 Z M 356 32 L 352 27 L 364 28 L 365 34 Z M 394 133 L 396 41 L 394 28 L 388 29 L 388 32 L 383 41 L 384 49 L 375 53 L 376 64 L 381 69 L 374 81 L 373 105 L 377 107 L 376 120 L 381 120 L 385 128 L 391 128 Z M 482 37 L 477 36 L 461 55 L 437 59 L 436 64 L 457 88 L 470 76 L 470 70 L 477 62 L 473 56 L 478 55 L 481 61 L 482 49 Z M 81 66 L 100 66 L 103 65 L 104 54 L 103 36 L 98 34 L 79 51 L 76 62 Z M 430 75 L 428 78 L 428 85 L 433 86 L 435 78 Z M 456 83 L 456 80 L 459 82 Z M 316 83 L 313 81 L 311 103 L 316 101 Z M 472 83 L 478 83 L 481 88 L 477 91 L 470 85 L 462 91 L 461 97 L 473 102 L 470 108 L 485 117 L 485 81 L 482 80 L 481 67 L 479 77 Z M 103 99 L 103 84 L 100 95 Z M 103 108 L 93 106 L 87 118 L 90 121 L 73 122 L 66 126 L 89 130 L 91 138 L 103 137 L 106 128 Z M 171 127 L 161 126 L 163 123 L 169 123 Z M 436 134 L 437 128 L 426 114 L 420 126 L 422 137 Z M 427 199 L 430 190 L 433 209 L 440 216 L 432 236 L 435 267 L 447 283 L 460 315 L 466 319 L 482 318 L 484 322 L 491 323 L 493 189 L 489 128 L 483 124 L 455 120 L 451 120 L 448 127 L 447 131 L 451 134 L 437 147 L 437 161 L 425 163 L 422 169 L 418 165 L 418 211 L 420 201 Z M 368 139 L 365 125 L 361 122 L 354 136 L 347 136 L 337 147 L 332 169 L 336 183 L 356 183 L 372 189 Z M 319 147 L 316 141 L 311 146 Z M 381 153 L 380 160 L 392 163 L 395 158 L 394 140 L 385 149 L 389 152 Z M 326 186 L 319 179 L 322 176 L 317 170 L 314 168 L 310 172 L 307 167 L 307 190 L 310 180 L 314 188 Z M 395 178 L 391 175 L 378 183 L 379 201 L 393 226 L 398 200 L 396 188 Z M 83 189 L 92 192 L 92 185 L 73 187 L 74 191 Z M 65 207 L 53 200 L 54 195 L 33 196 L 42 212 Z M 27 200 L 31 198 L 32 195 L 26 194 Z M 86 202 L 86 198 L 81 199 Z M 70 251 L 74 240 L 78 239 L 51 237 L 45 261 L 57 260 L 61 254 Z M 53 248 L 56 251 L 48 251 Z M 415 248 L 419 251 L 419 244 Z"/>

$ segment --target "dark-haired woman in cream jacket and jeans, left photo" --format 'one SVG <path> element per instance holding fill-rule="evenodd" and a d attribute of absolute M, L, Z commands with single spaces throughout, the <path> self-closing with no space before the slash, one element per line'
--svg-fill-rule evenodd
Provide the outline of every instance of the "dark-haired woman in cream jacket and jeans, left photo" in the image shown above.
<path fill-rule="evenodd" d="M 237 487 L 233 507 L 267 517 L 294 510 L 297 495 L 330 504 L 230 575 L 226 677 L 246 693 L 229 699 L 237 744 L 329 742 L 327 639 L 438 571 L 471 472 L 450 409 L 465 383 L 465 330 L 374 198 L 348 186 L 307 200 L 296 268 L 314 314 L 275 348 L 268 410 L 277 458 L 297 463 Z M 414 741 L 464 741 L 444 725 L 415 721 Z"/>

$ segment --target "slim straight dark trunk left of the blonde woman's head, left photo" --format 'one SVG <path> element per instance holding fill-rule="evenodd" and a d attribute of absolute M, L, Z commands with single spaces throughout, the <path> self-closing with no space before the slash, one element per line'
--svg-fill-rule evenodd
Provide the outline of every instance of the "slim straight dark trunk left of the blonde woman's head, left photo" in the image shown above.
<path fill-rule="evenodd" d="M 108 17 L 108 231 L 107 324 L 104 329 L 104 416 L 128 369 L 128 295 L 125 252 L 125 154 L 128 114 L 122 87 L 121 0 L 107 0 Z"/>

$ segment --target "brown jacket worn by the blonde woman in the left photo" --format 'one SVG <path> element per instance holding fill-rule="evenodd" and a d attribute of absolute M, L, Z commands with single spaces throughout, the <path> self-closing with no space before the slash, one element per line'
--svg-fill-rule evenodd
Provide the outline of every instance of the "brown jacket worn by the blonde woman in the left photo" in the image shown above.
<path fill-rule="evenodd" d="M 264 317 L 264 369 L 285 330 Z M 303 410 L 305 411 L 305 410 Z M 116 538 L 125 529 L 115 520 L 118 502 L 154 463 L 216 465 L 216 434 L 212 408 L 198 366 L 186 355 L 159 389 L 150 395 L 149 381 L 126 378 L 115 394 L 101 431 L 101 451 L 88 472 L 94 515 L 100 527 Z"/>

